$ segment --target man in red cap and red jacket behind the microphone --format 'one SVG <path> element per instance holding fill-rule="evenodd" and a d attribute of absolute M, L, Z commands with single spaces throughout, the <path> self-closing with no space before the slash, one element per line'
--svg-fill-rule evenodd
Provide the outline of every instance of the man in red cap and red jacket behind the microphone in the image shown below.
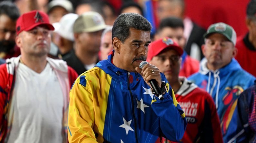
<path fill-rule="evenodd" d="M 188 124 L 181 141 L 221 143 L 220 120 L 213 99 L 185 77 L 179 77 L 182 54 L 183 49 L 168 37 L 151 43 L 147 53 L 147 61 L 165 74 L 185 112 Z"/>

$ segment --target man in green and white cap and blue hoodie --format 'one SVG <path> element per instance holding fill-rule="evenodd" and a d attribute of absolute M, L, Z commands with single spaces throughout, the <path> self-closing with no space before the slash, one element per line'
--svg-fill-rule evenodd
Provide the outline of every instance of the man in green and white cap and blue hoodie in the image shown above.
<path fill-rule="evenodd" d="M 208 28 L 204 38 L 202 51 L 205 58 L 200 63 L 200 71 L 188 79 L 212 96 L 221 121 L 223 141 L 229 142 L 231 139 L 227 136 L 236 128 L 236 124 L 230 124 L 237 98 L 253 85 L 255 77 L 234 59 L 236 33 L 230 25 L 215 23 Z M 235 120 L 232 123 L 236 123 Z"/>

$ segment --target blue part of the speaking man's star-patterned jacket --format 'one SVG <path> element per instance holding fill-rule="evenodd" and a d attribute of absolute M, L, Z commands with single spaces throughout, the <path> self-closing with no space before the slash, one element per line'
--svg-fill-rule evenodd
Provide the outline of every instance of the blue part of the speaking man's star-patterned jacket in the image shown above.
<path fill-rule="evenodd" d="M 112 55 L 109 55 L 108 60 L 102 60 L 96 65 L 112 77 L 103 130 L 104 140 L 136 142 L 135 133 L 138 142 L 155 143 L 160 136 L 172 141 L 182 139 L 187 122 L 181 116 L 184 113 L 181 107 L 173 104 L 171 87 L 164 95 L 164 100 L 159 100 L 151 93 L 141 75 L 131 72 L 128 79 L 128 71 L 115 67 L 111 59 Z M 163 73 L 161 78 L 168 83 Z M 156 101 L 151 104 L 154 99 Z M 139 108 L 139 101 L 147 106 L 144 111 Z M 133 131 L 128 130 L 127 133 L 120 127 L 124 120 L 130 122 Z"/>

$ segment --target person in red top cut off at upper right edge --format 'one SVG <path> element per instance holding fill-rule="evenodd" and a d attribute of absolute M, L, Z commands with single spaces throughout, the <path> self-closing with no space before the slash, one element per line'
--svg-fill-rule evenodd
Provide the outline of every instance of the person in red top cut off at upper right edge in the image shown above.
<path fill-rule="evenodd" d="M 251 0 L 247 6 L 246 11 L 246 25 L 249 32 L 245 36 L 237 38 L 236 48 L 238 49 L 235 59 L 240 66 L 256 76 L 256 0 Z"/>

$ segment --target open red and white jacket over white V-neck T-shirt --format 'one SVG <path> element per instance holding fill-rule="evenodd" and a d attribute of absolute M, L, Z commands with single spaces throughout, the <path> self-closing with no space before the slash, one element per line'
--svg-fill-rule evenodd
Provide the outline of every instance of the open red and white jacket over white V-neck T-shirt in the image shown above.
<path fill-rule="evenodd" d="M 6 63 L 0 65 L 0 143 L 7 142 L 12 127 L 13 113 L 10 108 L 12 107 L 12 91 L 15 88 L 15 71 L 19 66 L 20 57 L 21 56 L 6 59 Z M 55 71 L 62 87 L 62 93 L 64 97 L 62 136 L 63 142 L 68 142 L 67 114 L 69 107 L 69 91 L 78 75 L 75 70 L 71 67 L 68 67 L 66 62 L 63 60 L 54 60 L 47 57 L 47 62 Z"/>

